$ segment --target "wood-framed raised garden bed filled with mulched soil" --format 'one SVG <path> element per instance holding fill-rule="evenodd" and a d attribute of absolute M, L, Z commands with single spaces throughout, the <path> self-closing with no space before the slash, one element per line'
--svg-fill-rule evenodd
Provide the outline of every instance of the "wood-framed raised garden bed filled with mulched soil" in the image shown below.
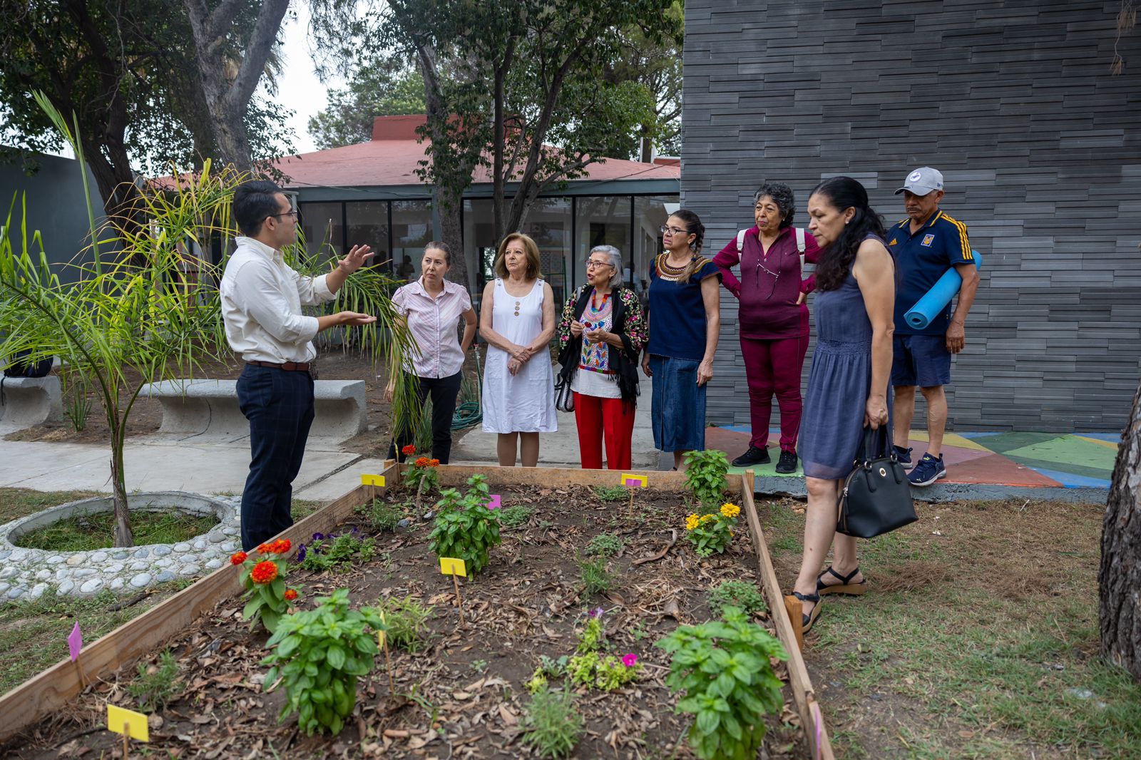
<path fill-rule="evenodd" d="M 653 644 L 679 624 L 715 616 L 707 592 L 719 582 L 746 580 L 760 581 L 769 606 L 776 605 L 776 614 L 758 614 L 756 622 L 777 632 L 792 655 L 787 665 L 777 668 L 791 684 L 783 714 L 768 722 L 766 752 L 771 758 L 831 757 L 823 727 L 816 730 L 819 709 L 803 662 L 792 650 L 795 644 L 787 646 L 791 626 L 779 590 L 774 592 L 775 579 L 764 577 L 771 566 L 766 573 L 767 551 L 753 537 L 760 524 L 752 488 L 742 488 L 742 478 L 730 477 L 734 498 L 744 502 L 742 529 L 725 555 L 702 559 L 682 540 L 689 509 L 678 474 L 646 474 L 650 487 L 636 492 L 632 510 L 628 501 L 600 501 L 593 490 L 615 485 L 613 472 L 444 467 L 440 480 L 445 487 L 459 485 L 477 471 L 501 494 L 501 509 L 533 511 L 519 525 L 503 528 L 491 564 L 462 583 L 464 625 L 452 580 L 440 575 L 428 550 L 430 523 L 375 534 L 373 557 L 347 572 L 318 573 L 291 563 L 289 584 L 301 589 L 302 608 L 311 607 L 314 597 L 342 588 L 349 590 L 354 607 L 410 596 L 431 607 L 420 650 L 391 650 L 396 694 L 379 656 L 371 676 L 362 679 L 357 710 L 339 736 L 299 734 L 296 718 L 277 722 L 284 695 L 262 693 L 267 669 L 259 664 L 268 637 L 250 633 L 241 620 L 237 568 L 227 567 L 84 649 L 81 664 L 88 679 L 106 676 L 74 700 L 67 702 L 80 690 L 79 669 L 70 662 L 0 700 L 0 714 L 7 715 L 5 736 L 19 731 L 0 750 L 18 758 L 74 757 L 84 747 L 113 752 L 118 736 L 99 727 L 108 702 L 136 706 L 124 690 L 135 668 L 124 665 L 132 664 L 135 653 L 156 663 L 169 647 L 179 663 L 180 684 L 167 709 L 156 712 L 161 720 L 152 719 L 149 749 L 160 754 L 533 757 L 521 742 L 520 720 L 529 702 L 525 685 L 542 656 L 557 661 L 575 653 L 586 611 L 601 607 L 612 650 L 636 654 L 642 671 L 639 680 L 615 692 L 580 689 L 577 709 L 585 731 L 574 757 L 690 757 L 686 730 L 691 715 L 674 713 L 677 696 L 663 684 L 669 655 Z M 391 487 L 398 468 L 386 475 L 388 488 L 356 488 L 284 535 L 294 548 L 310 543 L 314 533 L 345 533 L 353 526 L 373 535 L 367 520 L 353 510 L 373 493 L 391 503 L 406 498 Z M 592 595 L 583 588 L 580 560 L 590 558 L 588 545 L 600 534 L 618 539 L 622 549 L 608 560 L 609 589 Z M 551 681 L 565 684 L 553 677 Z M 3 712 L 8 708 L 13 712 Z M 46 711 L 54 714 L 42 718 Z"/>

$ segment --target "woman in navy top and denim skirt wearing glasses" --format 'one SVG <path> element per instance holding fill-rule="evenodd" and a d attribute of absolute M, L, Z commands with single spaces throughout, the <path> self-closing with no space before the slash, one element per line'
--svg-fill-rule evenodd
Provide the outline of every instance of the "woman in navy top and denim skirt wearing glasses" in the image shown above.
<path fill-rule="evenodd" d="M 662 227 L 665 252 L 649 273 L 642 371 L 653 379 L 654 447 L 673 452 L 673 469 L 687 451 L 705 450 L 705 383 L 721 330 L 721 273 L 701 254 L 704 237 L 697 215 L 679 209 Z"/>

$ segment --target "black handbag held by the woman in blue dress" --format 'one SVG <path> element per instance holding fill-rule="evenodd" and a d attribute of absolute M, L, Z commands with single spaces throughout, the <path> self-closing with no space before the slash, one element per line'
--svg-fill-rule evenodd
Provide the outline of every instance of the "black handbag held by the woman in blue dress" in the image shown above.
<path fill-rule="evenodd" d="M 912 501 L 912 484 L 891 447 L 887 425 L 864 428 L 860 458 L 840 491 L 836 533 L 871 539 L 919 519 Z"/>

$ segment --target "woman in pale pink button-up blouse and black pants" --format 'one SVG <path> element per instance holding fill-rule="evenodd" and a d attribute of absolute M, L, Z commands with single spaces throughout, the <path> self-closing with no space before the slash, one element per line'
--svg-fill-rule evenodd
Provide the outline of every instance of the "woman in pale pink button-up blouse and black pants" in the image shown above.
<path fill-rule="evenodd" d="M 460 395 L 463 357 L 476 337 L 476 310 L 468 289 L 444 280 L 452 265 L 452 252 L 440 242 L 424 246 L 420 278 L 393 293 L 393 306 L 403 316 L 420 348 L 416 356 L 404 357 L 404 371 L 414 377 L 420 404 L 431 394 L 431 454 L 447 464 L 452 453 L 452 415 Z M 463 338 L 456 326 L 463 317 Z M 385 398 L 391 403 L 390 383 Z M 404 461 L 400 450 L 412 443 L 412 430 L 396 431 L 388 458 Z M 423 454 L 423 452 L 420 452 Z"/>

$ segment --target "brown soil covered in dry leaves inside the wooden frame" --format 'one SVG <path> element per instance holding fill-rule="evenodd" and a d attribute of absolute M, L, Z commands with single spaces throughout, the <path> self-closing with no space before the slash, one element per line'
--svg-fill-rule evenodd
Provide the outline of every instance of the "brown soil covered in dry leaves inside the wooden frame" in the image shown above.
<path fill-rule="evenodd" d="M 378 534 L 377 556 L 347 573 L 291 568 L 289 582 L 302 588 L 302 607 L 338 588 L 349 589 L 354 606 L 412 595 L 432 607 L 427 646 L 418 654 L 391 652 L 396 694 L 378 656 L 375 670 L 361 681 L 355 715 L 339 736 L 299 734 L 296 717 L 277 722 L 284 694 L 262 692 L 266 669 L 259 665 L 268 637 L 251 634 L 241 620 L 241 601 L 226 599 L 170 641 L 180 665 L 179 693 L 152 717 L 149 749 L 176 758 L 286 752 L 305 758 L 537 757 L 523 742 L 529 702 L 524 684 L 540 655 L 574 654 L 586 611 L 600 606 L 612 650 L 636 653 L 644 671 L 637 682 L 613 693 L 580 689 L 585 731 L 573 757 L 693 757 L 686 736 L 691 717 L 674 713 L 677 696 L 663 682 L 669 656 L 653 644 L 679 624 L 709 620 L 706 591 L 718 582 L 755 580 L 745 520 L 725 555 L 702 559 L 681 535 L 689 509 L 677 494 L 637 492 L 632 512 L 626 502 L 601 503 L 582 486 L 519 486 L 501 494 L 504 508 L 534 511 L 526 524 L 503 528 L 488 567 L 461 583 L 466 625 L 452 579 L 440 575 L 428 551 L 430 523 Z M 390 491 L 386 498 L 398 503 L 402 496 Z M 357 524 L 371 532 L 363 518 Z M 621 536 L 625 547 L 610 558 L 610 590 L 591 596 L 583 590 L 578 559 L 600 533 Z M 756 621 L 771 631 L 766 614 Z M 66 710 L 0 747 L 0 754 L 119 757 L 119 736 L 102 728 L 105 705 L 136 706 L 126 690 L 135 672 L 123 669 L 89 688 Z M 787 678 L 784 663 L 776 672 Z M 768 721 L 762 757 L 806 757 L 787 687 L 785 693 L 783 714 Z"/>

